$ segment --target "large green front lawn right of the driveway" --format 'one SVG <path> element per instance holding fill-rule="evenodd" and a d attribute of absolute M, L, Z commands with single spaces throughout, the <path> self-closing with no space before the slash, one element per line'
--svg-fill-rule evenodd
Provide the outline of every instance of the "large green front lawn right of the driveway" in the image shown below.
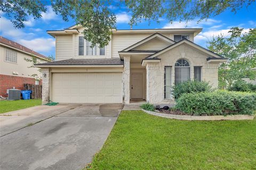
<path fill-rule="evenodd" d="M 256 120 L 179 121 L 123 111 L 91 169 L 256 169 Z"/>

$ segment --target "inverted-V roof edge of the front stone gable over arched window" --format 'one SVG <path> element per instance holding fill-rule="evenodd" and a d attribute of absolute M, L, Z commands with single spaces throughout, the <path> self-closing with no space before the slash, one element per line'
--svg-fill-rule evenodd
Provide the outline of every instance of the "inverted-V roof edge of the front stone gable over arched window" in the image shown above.
<path fill-rule="evenodd" d="M 206 49 L 206 48 L 204 48 L 202 46 L 199 46 L 199 45 L 193 43 L 192 41 L 189 41 L 188 39 L 182 39 L 182 40 L 178 41 L 177 43 L 172 44 L 172 45 L 170 45 L 170 46 L 160 50 L 159 52 L 157 52 L 155 54 L 152 54 L 152 55 L 150 55 L 150 56 L 148 56 L 146 58 L 149 59 L 149 58 L 157 57 L 158 55 L 163 54 L 163 53 L 167 52 L 168 50 L 170 50 L 170 49 L 172 49 L 174 47 L 180 46 L 182 44 L 187 44 L 189 46 L 192 46 L 192 47 L 194 47 L 194 48 L 196 48 L 196 49 L 198 49 L 198 50 L 200 50 L 200 51 L 202 51 L 202 52 L 204 52 L 206 54 L 209 54 L 212 57 L 223 58 L 219 54 L 216 54 L 216 53 L 214 53 L 214 52 L 212 52 L 212 51 L 210 51 L 210 50 L 208 50 L 208 49 Z"/>

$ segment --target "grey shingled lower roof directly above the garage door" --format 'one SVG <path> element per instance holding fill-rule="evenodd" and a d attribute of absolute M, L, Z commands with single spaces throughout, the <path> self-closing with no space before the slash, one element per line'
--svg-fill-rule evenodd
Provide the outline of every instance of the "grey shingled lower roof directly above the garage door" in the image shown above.
<path fill-rule="evenodd" d="M 124 61 L 120 58 L 86 58 L 68 59 L 55 62 L 41 63 L 36 65 L 123 65 Z"/>

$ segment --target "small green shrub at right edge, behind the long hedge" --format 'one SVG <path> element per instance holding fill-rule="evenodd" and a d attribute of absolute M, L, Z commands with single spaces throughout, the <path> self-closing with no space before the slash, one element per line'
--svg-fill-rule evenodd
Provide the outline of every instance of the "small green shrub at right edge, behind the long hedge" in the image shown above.
<path fill-rule="evenodd" d="M 229 91 L 252 91 L 256 92 L 256 85 L 247 83 L 244 80 L 235 81 L 232 86 L 228 89 Z"/>

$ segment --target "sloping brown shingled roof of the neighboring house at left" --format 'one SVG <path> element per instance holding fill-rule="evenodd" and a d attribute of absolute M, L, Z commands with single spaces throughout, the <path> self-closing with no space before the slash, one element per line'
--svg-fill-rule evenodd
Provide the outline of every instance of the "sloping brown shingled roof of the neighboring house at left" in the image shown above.
<path fill-rule="evenodd" d="M 37 52 L 34 52 L 32 49 L 29 49 L 25 46 L 22 46 L 20 45 L 19 43 L 16 43 L 10 39 L 7 39 L 7 38 L 4 38 L 2 36 L 0 36 L 0 43 L 3 43 L 7 46 L 11 46 L 13 48 L 16 48 L 16 49 L 19 49 L 19 50 L 22 50 L 23 52 L 27 52 L 27 53 L 30 53 L 30 54 L 33 54 L 35 56 L 38 56 L 38 57 L 42 57 L 42 58 L 45 58 L 46 60 L 50 60 L 48 57 L 42 55 L 42 54 L 39 54 Z"/>

